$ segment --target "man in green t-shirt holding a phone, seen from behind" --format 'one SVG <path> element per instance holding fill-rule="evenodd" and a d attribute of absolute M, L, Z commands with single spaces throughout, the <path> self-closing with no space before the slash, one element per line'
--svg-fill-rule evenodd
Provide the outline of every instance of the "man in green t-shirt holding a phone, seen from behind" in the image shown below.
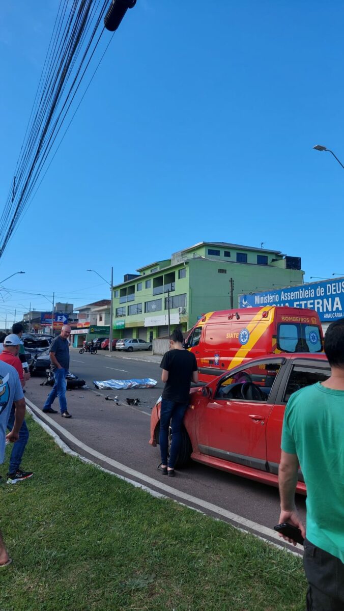
<path fill-rule="evenodd" d="M 304 542 L 304 569 L 309 582 L 307 609 L 343 611 L 344 318 L 329 326 L 324 351 L 331 365 L 331 376 L 298 390 L 285 408 L 279 466 L 279 522 L 295 525 L 306 537 L 306 529 L 295 508 L 300 466 L 307 486 Z"/>

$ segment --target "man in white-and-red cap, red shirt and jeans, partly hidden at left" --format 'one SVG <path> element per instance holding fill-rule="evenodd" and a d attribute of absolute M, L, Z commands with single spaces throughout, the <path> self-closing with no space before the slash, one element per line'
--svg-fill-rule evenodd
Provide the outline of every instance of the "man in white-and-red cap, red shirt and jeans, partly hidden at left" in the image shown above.
<path fill-rule="evenodd" d="M 7 365 L 12 365 L 15 370 L 18 372 L 18 376 L 21 382 L 21 386 L 24 387 L 24 374 L 23 374 L 23 365 L 21 364 L 21 360 L 18 357 L 21 346 L 21 340 L 18 335 L 10 334 L 7 335 L 4 339 L 4 349 L 0 354 L 0 360 Z M 7 422 L 7 428 L 11 431 L 15 422 L 15 405 L 12 405 L 10 410 L 9 419 Z M 13 445 L 11 456 L 10 456 L 10 464 L 9 464 L 9 472 L 7 473 L 7 484 L 16 484 L 17 481 L 27 480 L 29 477 L 32 477 L 32 471 L 23 471 L 20 469 L 21 459 L 23 458 L 24 450 L 26 448 L 27 441 L 29 439 L 29 431 L 27 430 L 26 422 L 23 420 L 19 431 L 19 439 L 16 441 L 16 444 Z"/>

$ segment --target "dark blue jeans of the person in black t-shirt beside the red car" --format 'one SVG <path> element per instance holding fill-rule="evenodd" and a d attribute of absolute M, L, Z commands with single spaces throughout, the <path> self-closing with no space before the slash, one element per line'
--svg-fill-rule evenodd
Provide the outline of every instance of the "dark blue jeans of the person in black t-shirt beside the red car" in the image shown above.
<path fill-rule="evenodd" d="M 174 469 L 175 463 L 177 462 L 181 441 L 180 430 L 187 408 L 187 403 L 176 403 L 175 401 L 168 401 L 167 399 L 161 400 L 159 434 L 161 464 L 167 464 L 167 453 L 169 449 L 169 425 L 171 422 L 172 440 L 169 458 L 169 467 L 171 469 Z"/>

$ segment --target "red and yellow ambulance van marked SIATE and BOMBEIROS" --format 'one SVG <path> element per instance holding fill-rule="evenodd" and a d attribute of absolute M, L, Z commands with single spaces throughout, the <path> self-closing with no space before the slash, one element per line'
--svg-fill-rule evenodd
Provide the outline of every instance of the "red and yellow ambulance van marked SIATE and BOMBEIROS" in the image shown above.
<path fill-rule="evenodd" d="M 196 356 L 199 380 L 210 382 L 265 354 L 321 353 L 323 331 L 313 310 L 265 305 L 208 312 L 192 327 L 185 343 Z"/>

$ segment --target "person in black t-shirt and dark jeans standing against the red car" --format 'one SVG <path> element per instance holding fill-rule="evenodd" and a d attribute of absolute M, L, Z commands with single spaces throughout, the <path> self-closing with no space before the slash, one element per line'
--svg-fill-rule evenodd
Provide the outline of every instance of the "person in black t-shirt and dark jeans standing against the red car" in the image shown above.
<path fill-rule="evenodd" d="M 160 367 L 163 370 L 161 379 L 165 386 L 161 400 L 159 434 L 161 465 L 158 469 L 163 475 L 174 477 L 181 442 L 181 425 L 189 405 L 191 381 L 198 381 L 196 357 L 183 347 L 183 334 L 180 329 L 175 329 L 170 336 L 170 350 L 164 354 Z M 172 442 L 167 464 L 170 422 Z"/>

